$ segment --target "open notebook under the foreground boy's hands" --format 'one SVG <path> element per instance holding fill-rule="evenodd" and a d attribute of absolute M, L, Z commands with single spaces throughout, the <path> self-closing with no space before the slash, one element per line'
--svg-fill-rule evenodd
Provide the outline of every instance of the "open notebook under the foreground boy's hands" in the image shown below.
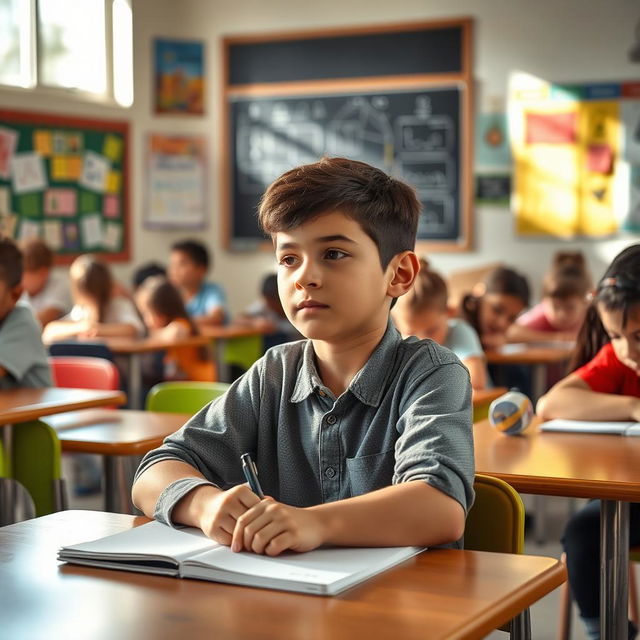
<path fill-rule="evenodd" d="M 58 560 L 331 596 L 420 551 L 420 547 L 341 547 L 270 558 L 234 553 L 199 529 L 173 529 L 154 521 L 92 542 L 62 547 Z"/>

